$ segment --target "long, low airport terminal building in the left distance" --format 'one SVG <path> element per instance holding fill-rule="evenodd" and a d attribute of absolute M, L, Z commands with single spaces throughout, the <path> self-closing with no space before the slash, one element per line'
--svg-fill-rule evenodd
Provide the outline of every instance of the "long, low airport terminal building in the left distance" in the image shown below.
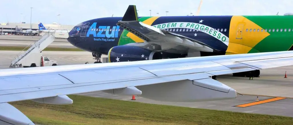
<path fill-rule="evenodd" d="M 71 30 L 74 25 L 59 25 L 57 23 L 53 24 L 43 24 L 47 29 L 65 29 Z M 32 23 L 32 30 L 37 30 L 38 24 Z M 18 34 L 16 31 L 25 32 L 25 30 L 30 29 L 30 23 L 16 23 L 16 22 L 7 22 L 7 23 L 0 23 L 0 34 Z"/>

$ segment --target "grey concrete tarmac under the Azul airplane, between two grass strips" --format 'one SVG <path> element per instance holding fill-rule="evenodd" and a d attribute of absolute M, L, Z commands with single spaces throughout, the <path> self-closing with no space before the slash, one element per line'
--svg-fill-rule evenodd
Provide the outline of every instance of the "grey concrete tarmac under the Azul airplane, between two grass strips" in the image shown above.
<path fill-rule="evenodd" d="M 9 68 L 13 57 L 17 53 L 19 51 L 0 51 L 0 69 Z M 49 59 L 57 60 L 60 65 L 84 64 L 87 61 L 93 63 L 95 61 L 90 52 L 43 51 L 42 53 Z M 284 78 L 286 71 L 287 78 Z M 131 96 L 112 95 L 101 91 L 78 95 L 161 105 L 293 117 L 293 66 L 261 70 L 260 77 L 255 77 L 253 80 L 249 80 L 246 77 L 232 77 L 232 74 L 217 76 L 217 80 L 234 88 L 242 95 L 237 95 L 237 98 L 229 100 L 193 103 L 154 101 L 139 96 L 136 96 L 136 100 L 131 100 Z"/>

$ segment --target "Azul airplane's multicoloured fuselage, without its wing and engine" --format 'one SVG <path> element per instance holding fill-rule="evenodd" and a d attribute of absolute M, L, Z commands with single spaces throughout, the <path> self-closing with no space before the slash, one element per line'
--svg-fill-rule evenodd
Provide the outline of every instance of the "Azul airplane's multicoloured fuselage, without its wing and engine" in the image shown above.
<path fill-rule="evenodd" d="M 108 54 L 113 46 L 144 42 L 117 26 L 121 19 L 82 22 L 71 30 L 68 41 L 85 51 L 102 54 Z M 290 15 L 139 17 L 145 24 L 201 41 L 222 54 L 292 50 L 292 20 Z"/>

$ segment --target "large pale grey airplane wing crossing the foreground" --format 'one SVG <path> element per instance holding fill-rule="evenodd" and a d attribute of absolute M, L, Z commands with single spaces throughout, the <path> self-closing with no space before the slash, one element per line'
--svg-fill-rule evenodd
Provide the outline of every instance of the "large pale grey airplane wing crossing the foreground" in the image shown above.
<path fill-rule="evenodd" d="M 0 120 L 33 124 L 8 102 L 72 104 L 69 94 L 104 91 L 161 101 L 236 98 L 211 76 L 293 65 L 293 51 L 0 70 Z"/>

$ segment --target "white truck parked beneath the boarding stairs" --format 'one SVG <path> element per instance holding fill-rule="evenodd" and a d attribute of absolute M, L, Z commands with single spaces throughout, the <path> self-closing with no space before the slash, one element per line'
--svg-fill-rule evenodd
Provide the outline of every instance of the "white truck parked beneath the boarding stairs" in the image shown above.
<path fill-rule="evenodd" d="M 40 66 L 57 66 L 58 62 L 50 60 L 46 56 L 42 56 L 42 53 L 30 52 L 25 55 L 25 59 L 17 62 L 18 67 L 40 67 Z"/>

